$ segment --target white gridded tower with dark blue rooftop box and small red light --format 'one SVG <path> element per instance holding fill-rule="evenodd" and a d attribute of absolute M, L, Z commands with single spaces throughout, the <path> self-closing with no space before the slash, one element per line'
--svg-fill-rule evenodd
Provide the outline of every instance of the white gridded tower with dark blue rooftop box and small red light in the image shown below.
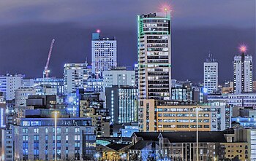
<path fill-rule="evenodd" d="M 116 67 L 116 37 L 100 37 L 99 32 L 92 34 L 91 66 L 96 77 L 102 77 L 103 71 Z"/>

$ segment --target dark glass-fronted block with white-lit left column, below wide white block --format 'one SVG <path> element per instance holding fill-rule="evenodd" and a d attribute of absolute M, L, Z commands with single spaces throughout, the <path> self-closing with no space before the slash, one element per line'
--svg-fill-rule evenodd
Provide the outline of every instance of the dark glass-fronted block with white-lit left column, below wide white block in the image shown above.
<path fill-rule="evenodd" d="M 138 88 L 106 87 L 106 107 L 114 124 L 138 122 Z"/>

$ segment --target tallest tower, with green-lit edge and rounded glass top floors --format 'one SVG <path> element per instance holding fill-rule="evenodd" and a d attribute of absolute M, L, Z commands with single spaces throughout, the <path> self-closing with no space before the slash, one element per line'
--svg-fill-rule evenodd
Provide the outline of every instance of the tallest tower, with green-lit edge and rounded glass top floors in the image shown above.
<path fill-rule="evenodd" d="M 138 15 L 138 86 L 140 99 L 170 99 L 170 23 L 170 12 Z"/>

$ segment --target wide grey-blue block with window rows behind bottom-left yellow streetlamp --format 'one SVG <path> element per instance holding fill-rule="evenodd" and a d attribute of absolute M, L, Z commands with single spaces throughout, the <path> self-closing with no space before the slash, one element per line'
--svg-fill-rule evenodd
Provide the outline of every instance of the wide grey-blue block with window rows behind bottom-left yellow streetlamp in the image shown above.
<path fill-rule="evenodd" d="M 90 118 L 58 118 L 57 129 L 53 118 L 18 118 L 13 131 L 15 160 L 53 160 L 55 148 L 58 160 L 83 160 L 95 152 Z"/>

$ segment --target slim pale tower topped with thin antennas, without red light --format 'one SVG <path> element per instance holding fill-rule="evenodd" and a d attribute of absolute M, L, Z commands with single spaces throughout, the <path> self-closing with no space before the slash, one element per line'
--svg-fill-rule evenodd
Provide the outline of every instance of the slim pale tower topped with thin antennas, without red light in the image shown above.
<path fill-rule="evenodd" d="M 203 85 L 208 93 L 213 93 L 218 89 L 218 63 L 209 53 L 206 62 L 203 63 Z"/>

